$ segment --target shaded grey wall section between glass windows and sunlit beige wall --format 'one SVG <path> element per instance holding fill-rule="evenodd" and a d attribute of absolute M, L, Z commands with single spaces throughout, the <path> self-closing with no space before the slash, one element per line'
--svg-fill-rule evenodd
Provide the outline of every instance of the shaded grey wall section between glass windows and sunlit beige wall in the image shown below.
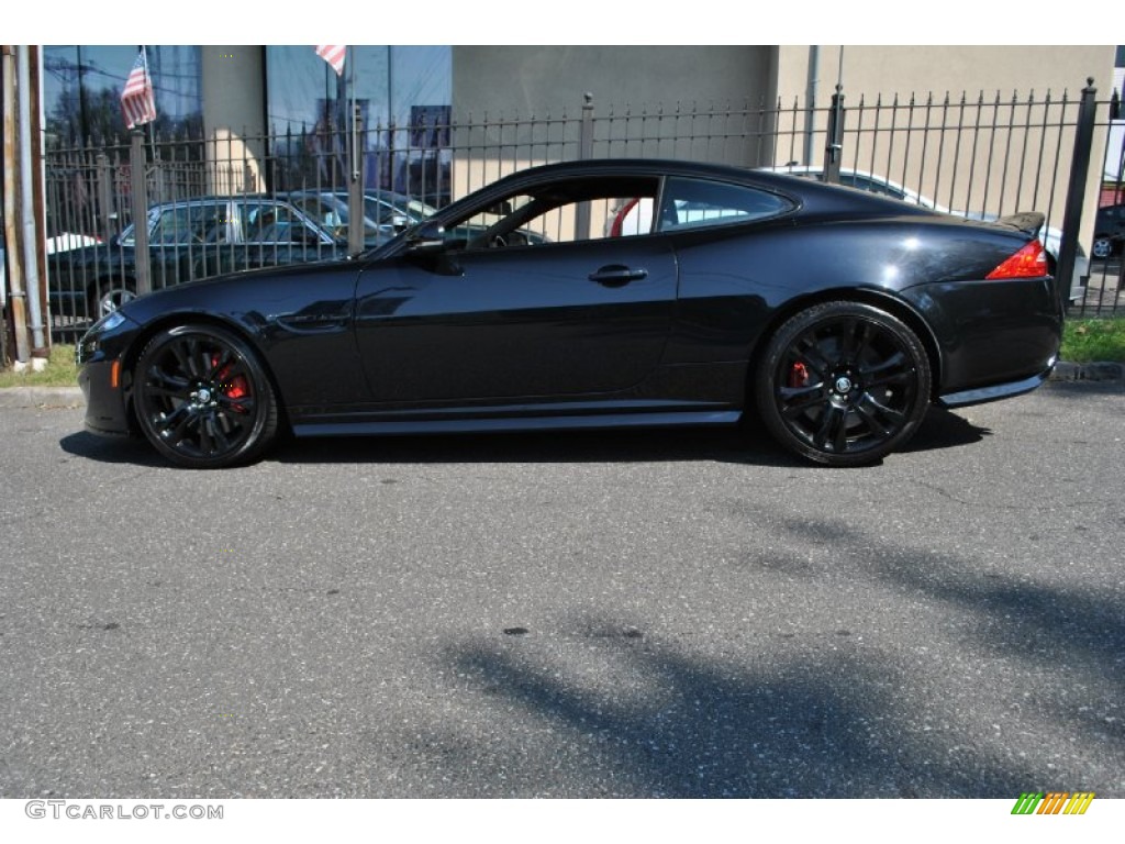
<path fill-rule="evenodd" d="M 776 64 L 775 46 L 453 47 L 453 117 L 462 127 L 453 138 L 453 195 L 577 158 L 587 93 L 595 156 L 757 163 L 742 125 L 724 123 L 723 113 L 772 102 Z M 717 116 L 706 126 L 688 123 L 696 108 Z M 699 142 L 669 141 L 686 134 Z"/>

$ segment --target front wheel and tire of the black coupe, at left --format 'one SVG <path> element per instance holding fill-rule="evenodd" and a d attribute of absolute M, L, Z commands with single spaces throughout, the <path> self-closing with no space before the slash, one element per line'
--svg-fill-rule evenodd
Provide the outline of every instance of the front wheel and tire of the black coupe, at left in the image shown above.
<path fill-rule="evenodd" d="M 161 332 L 141 353 L 133 384 L 141 430 L 178 466 L 250 463 L 277 434 L 269 376 L 250 344 L 224 329 L 180 325 Z"/>

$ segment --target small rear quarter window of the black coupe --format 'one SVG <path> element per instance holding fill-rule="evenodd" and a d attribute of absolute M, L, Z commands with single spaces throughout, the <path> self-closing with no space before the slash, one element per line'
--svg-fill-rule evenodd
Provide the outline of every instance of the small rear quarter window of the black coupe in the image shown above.
<path fill-rule="evenodd" d="M 662 232 L 749 223 L 792 209 L 784 197 L 757 188 L 703 179 L 668 179 L 657 227 Z"/>

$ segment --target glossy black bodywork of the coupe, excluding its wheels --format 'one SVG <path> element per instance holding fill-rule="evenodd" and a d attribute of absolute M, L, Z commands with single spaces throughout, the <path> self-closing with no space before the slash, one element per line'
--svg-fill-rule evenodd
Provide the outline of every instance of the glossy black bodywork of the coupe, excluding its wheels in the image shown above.
<path fill-rule="evenodd" d="M 736 200 L 708 218 L 673 203 L 672 177 L 704 192 L 745 189 L 780 210 L 755 218 Z M 588 203 L 600 180 L 663 201 L 655 231 L 487 248 L 528 221 L 516 210 L 495 225 L 472 222 L 474 212 L 524 192 L 531 210 Z M 423 242 L 434 223 L 469 226 L 482 240 Z M 1050 276 L 986 280 L 1034 240 L 1028 225 L 1035 216 L 957 221 L 734 168 L 538 168 L 353 260 L 241 272 L 129 302 L 122 325 L 91 332 L 80 348 L 87 423 L 135 427 L 134 367 L 162 329 L 186 323 L 244 338 L 298 434 L 730 423 L 749 406 L 755 362 L 778 329 L 834 300 L 880 308 L 917 334 L 933 370 L 927 398 L 990 401 L 1045 377 L 1059 348 Z M 114 359 L 122 387 L 107 390 L 99 372 Z"/>

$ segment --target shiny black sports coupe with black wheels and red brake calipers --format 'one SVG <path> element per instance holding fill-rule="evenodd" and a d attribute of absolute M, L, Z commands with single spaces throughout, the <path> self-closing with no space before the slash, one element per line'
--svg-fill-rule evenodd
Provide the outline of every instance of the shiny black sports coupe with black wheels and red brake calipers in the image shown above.
<path fill-rule="evenodd" d="M 641 222 L 615 224 L 624 208 Z M 932 402 L 1046 379 L 1062 313 L 1042 224 L 718 165 L 536 168 L 356 259 L 126 303 L 79 347 L 86 423 L 219 467 L 281 429 L 732 424 L 756 411 L 808 459 L 868 464 Z"/>

